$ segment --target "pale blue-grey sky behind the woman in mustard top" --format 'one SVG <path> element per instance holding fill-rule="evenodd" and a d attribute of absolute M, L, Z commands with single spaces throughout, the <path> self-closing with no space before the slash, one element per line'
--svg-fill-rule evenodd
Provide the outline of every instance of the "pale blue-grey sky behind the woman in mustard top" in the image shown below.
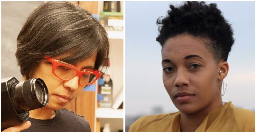
<path fill-rule="evenodd" d="M 126 116 L 151 115 L 177 109 L 162 82 L 161 46 L 156 42 L 158 17 L 166 16 L 169 4 L 181 2 L 125 3 L 126 26 Z M 206 3 L 212 3 L 207 1 Z M 224 102 L 255 109 L 255 3 L 214 2 L 232 24 L 235 43 L 228 57 L 229 73 L 224 79 Z"/>

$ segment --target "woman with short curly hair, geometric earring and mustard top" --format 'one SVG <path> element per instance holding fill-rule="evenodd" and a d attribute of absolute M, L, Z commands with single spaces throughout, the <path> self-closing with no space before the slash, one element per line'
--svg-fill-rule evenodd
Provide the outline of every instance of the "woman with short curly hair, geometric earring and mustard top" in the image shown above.
<path fill-rule="evenodd" d="M 234 43 L 230 24 L 215 3 L 170 5 L 157 20 L 162 46 L 163 83 L 179 112 L 145 116 L 130 132 L 247 132 L 255 130 L 255 113 L 223 103 L 223 79 Z"/>

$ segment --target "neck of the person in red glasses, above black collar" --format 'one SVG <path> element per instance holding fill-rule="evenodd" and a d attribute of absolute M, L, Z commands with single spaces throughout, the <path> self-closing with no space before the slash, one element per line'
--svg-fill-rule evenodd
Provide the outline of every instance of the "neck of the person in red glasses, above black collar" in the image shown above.
<path fill-rule="evenodd" d="M 41 120 L 52 119 L 55 115 L 55 111 L 47 107 L 29 111 L 29 117 Z"/>

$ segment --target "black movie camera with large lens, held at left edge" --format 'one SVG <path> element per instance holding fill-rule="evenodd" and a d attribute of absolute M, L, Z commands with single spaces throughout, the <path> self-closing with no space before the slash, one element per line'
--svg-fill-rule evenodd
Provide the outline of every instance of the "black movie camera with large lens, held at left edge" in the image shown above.
<path fill-rule="evenodd" d="M 20 83 L 14 77 L 1 79 L 1 130 L 23 123 L 29 110 L 42 108 L 48 102 L 48 89 L 40 78 Z"/>

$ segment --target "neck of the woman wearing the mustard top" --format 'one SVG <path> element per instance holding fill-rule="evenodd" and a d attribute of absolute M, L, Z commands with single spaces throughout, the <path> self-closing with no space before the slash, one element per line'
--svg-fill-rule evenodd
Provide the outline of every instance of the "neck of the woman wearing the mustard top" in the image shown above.
<path fill-rule="evenodd" d="M 199 111 L 195 114 L 186 114 L 180 113 L 180 130 L 181 132 L 195 132 L 196 129 L 201 125 L 204 121 L 204 118 L 211 112 L 212 110 L 219 108 L 223 105 L 223 102 L 215 103 L 211 105 L 212 107 L 205 108 L 202 111 Z"/>

